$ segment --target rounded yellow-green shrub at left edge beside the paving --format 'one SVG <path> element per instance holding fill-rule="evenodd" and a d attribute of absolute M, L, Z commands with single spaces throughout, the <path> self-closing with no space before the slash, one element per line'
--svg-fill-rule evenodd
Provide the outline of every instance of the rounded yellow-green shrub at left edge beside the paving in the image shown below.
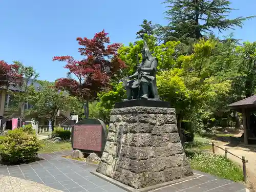
<path fill-rule="evenodd" d="M 1 160 L 10 164 L 31 162 L 40 148 L 35 135 L 31 136 L 23 129 L 10 130 L 0 143 Z"/>

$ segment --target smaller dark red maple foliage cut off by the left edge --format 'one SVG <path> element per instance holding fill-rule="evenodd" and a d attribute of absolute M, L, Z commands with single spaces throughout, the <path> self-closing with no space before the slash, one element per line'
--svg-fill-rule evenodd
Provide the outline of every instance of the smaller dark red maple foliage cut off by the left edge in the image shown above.
<path fill-rule="evenodd" d="M 19 67 L 0 60 L 0 88 L 8 89 L 10 86 L 22 85 L 22 75 L 18 73 Z"/>

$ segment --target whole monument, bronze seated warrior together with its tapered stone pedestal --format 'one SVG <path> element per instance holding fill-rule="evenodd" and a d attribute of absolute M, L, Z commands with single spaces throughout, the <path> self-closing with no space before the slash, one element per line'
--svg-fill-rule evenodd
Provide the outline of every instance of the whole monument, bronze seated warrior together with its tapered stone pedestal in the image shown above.
<path fill-rule="evenodd" d="M 137 72 L 125 80 L 127 99 L 111 111 L 109 135 L 93 174 L 127 191 L 148 191 L 193 177 L 175 109 L 160 101 L 157 58 L 144 43 Z M 191 177 L 189 177 L 191 176 Z"/>

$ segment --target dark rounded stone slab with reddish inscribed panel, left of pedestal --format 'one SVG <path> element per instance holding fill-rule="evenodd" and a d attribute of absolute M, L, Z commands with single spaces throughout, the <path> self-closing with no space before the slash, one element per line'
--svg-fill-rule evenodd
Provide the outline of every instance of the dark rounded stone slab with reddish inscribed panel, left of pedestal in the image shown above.
<path fill-rule="evenodd" d="M 107 138 L 106 125 L 99 119 L 84 119 L 74 125 L 71 133 L 73 150 L 101 154 Z"/>

